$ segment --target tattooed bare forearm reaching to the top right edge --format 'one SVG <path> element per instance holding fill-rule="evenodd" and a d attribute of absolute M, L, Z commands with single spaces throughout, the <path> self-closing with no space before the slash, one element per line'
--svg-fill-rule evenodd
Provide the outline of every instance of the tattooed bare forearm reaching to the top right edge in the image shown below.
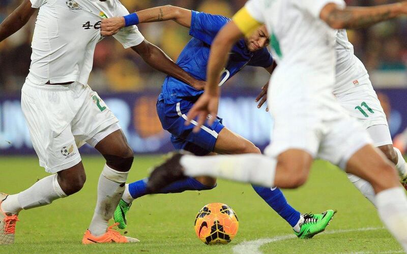
<path fill-rule="evenodd" d="M 407 1 L 374 7 L 347 7 L 328 4 L 321 11 L 321 19 L 334 29 L 356 29 L 407 14 Z"/>

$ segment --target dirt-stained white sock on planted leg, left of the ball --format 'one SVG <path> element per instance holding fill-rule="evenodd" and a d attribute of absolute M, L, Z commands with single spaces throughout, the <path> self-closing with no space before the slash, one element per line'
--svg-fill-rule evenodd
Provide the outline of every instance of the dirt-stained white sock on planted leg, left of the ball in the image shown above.
<path fill-rule="evenodd" d="M 106 233 L 109 219 L 122 198 L 129 172 L 119 172 L 105 165 L 98 183 L 98 201 L 89 231 L 94 236 Z"/>

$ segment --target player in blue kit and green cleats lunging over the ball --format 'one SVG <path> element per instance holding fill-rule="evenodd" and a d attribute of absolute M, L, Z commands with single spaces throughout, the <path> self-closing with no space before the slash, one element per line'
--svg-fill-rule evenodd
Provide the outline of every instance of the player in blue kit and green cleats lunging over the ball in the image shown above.
<path fill-rule="evenodd" d="M 230 19 L 202 12 L 186 10 L 173 6 L 162 6 L 139 11 L 125 17 L 104 19 L 101 24 L 103 36 L 112 36 L 126 26 L 145 22 L 173 20 L 190 28 L 193 38 L 185 46 L 177 64 L 198 80 L 206 80 L 207 63 L 212 41 L 218 31 Z M 256 30 L 253 36 L 240 40 L 232 48 L 226 68 L 223 70 L 219 86 L 241 71 L 246 65 L 263 67 L 269 73 L 275 68 L 273 57 L 267 49 L 269 35 L 265 26 Z M 203 89 L 203 87 L 202 87 Z M 167 76 L 157 101 L 157 112 L 161 124 L 170 132 L 171 142 L 178 150 L 186 150 L 195 155 L 260 153 L 250 141 L 231 132 L 218 118 L 213 124 L 204 124 L 198 133 L 192 132 L 197 124 L 186 125 L 187 116 L 193 104 L 202 94 L 202 90 L 185 82 Z M 126 214 L 134 199 L 149 194 L 146 190 L 146 179 L 126 184 L 126 189 L 114 219 L 125 228 Z M 185 190 L 207 190 L 216 186 L 216 179 L 210 177 L 186 178 L 175 182 L 161 193 L 181 193 Z M 301 214 L 291 207 L 278 188 L 253 186 L 256 193 L 263 198 L 290 226 L 299 238 L 311 238 L 328 226 L 334 211 L 328 210 L 321 214 Z"/>

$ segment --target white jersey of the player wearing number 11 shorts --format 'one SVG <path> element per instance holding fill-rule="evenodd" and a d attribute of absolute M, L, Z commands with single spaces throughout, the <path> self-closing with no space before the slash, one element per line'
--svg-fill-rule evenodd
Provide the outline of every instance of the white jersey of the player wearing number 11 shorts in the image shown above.
<path fill-rule="evenodd" d="M 336 84 L 334 94 L 340 94 L 366 83 L 369 75 L 363 63 L 356 57 L 352 43 L 347 39 L 346 30 L 335 31 L 336 41 Z"/>

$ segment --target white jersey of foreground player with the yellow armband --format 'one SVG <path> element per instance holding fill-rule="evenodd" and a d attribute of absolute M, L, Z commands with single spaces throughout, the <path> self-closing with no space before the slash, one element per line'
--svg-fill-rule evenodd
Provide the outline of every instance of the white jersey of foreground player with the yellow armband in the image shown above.
<path fill-rule="evenodd" d="M 332 95 L 336 66 L 334 29 L 319 19 L 322 8 L 329 3 L 345 6 L 343 0 L 250 0 L 246 9 L 271 32 L 271 46 L 279 58 L 272 78 L 279 82 L 272 81 L 271 86 L 275 97 L 298 103 L 306 96 L 311 104 L 340 111 Z M 293 89 L 299 91 L 298 98 L 293 98 Z"/>

